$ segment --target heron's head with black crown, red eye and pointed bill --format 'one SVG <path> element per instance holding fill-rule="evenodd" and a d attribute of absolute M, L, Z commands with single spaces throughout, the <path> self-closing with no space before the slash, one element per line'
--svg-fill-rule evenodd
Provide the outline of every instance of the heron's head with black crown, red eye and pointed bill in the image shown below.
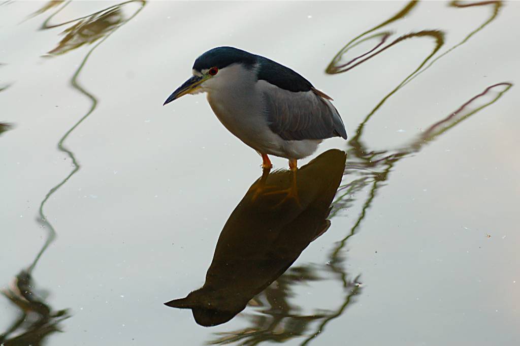
<path fill-rule="evenodd" d="M 251 70 L 257 56 L 233 47 L 217 47 L 208 50 L 195 60 L 192 76 L 164 101 L 164 105 L 186 94 L 198 94 L 231 82 L 237 71 Z"/>

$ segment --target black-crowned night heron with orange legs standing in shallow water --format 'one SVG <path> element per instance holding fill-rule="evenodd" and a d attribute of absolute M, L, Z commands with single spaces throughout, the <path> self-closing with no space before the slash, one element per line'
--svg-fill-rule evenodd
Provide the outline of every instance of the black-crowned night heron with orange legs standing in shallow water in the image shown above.
<path fill-rule="evenodd" d="M 195 60 L 193 75 L 164 104 L 186 94 L 207 93 L 218 120 L 255 149 L 270 169 L 268 154 L 297 159 L 316 151 L 321 140 L 347 139 L 332 98 L 288 67 L 232 47 L 208 50 Z"/>

